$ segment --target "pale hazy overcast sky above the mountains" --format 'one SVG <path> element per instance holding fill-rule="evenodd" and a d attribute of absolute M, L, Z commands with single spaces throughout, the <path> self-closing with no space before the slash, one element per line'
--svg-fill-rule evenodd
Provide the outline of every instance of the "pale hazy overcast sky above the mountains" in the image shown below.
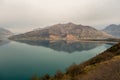
<path fill-rule="evenodd" d="M 0 0 L 0 27 L 14 33 L 67 22 L 119 24 L 120 0 Z"/>

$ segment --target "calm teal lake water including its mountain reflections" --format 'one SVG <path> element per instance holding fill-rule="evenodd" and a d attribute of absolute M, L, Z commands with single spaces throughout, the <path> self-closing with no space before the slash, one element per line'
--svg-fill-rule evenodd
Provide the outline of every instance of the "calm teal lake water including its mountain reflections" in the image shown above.
<path fill-rule="evenodd" d="M 1 41 L 0 80 L 30 80 L 33 75 L 54 75 L 111 47 L 100 42 Z"/>

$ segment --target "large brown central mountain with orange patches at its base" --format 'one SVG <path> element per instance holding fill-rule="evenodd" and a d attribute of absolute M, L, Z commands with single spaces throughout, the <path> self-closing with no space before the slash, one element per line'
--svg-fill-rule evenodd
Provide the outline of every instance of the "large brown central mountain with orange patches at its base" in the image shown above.
<path fill-rule="evenodd" d="M 80 40 L 80 39 L 106 39 L 112 36 L 96 30 L 90 26 L 73 23 L 56 24 L 47 28 L 34 30 L 25 34 L 11 37 L 14 40 Z"/>

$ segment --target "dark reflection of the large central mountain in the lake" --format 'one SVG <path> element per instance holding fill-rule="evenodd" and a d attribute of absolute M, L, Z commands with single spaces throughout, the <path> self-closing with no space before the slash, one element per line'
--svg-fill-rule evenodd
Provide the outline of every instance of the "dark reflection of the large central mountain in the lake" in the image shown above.
<path fill-rule="evenodd" d="M 105 44 L 103 42 L 67 42 L 67 41 L 51 42 L 51 41 L 28 41 L 28 40 L 22 40 L 19 42 L 33 46 L 43 46 L 51 48 L 56 51 L 64 51 L 68 53 L 73 53 L 75 51 L 91 50 L 97 46 Z"/>

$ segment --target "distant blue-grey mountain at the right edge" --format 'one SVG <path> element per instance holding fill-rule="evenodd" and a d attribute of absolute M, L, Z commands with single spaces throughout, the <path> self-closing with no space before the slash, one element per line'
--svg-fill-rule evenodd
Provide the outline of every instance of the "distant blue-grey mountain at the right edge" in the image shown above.
<path fill-rule="evenodd" d="M 111 25 L 107 26 L 105 29 L 103 29 L 103 31 L 105 31 L 117 38 L 120 38 L 120 25 L 111 24 Z"/>

